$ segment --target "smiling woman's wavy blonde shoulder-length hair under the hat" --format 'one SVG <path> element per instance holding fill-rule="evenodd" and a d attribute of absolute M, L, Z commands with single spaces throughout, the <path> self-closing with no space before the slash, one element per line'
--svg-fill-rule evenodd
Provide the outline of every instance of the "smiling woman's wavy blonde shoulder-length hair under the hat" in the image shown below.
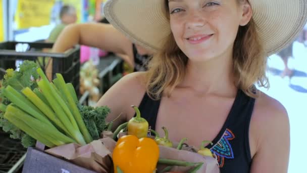
<path fill-rule="evenodd" d="M 240 0 L 239 0 L 240 1 Z M 166 12 L 168 11 L 166 1 Z M 169 13 L 166 13 L 169 17 Z M 171 33 L 165 40 L 163 49 L 156 53 L 148 64 L 146 72 L 146 92 L 152 99 L 160 99 L 163 92 L 171 96 L 174 88 L 182 82 L 186 74 L 188 57 L 179 49 Z M 240 26 L 233 46 L 233 72 L 235 84 L 247 96 L 258 96 L 254 83 L 269 87 L 266 77 L 267 57 L 263 43 L 251 19 L 245 26 Z"/>

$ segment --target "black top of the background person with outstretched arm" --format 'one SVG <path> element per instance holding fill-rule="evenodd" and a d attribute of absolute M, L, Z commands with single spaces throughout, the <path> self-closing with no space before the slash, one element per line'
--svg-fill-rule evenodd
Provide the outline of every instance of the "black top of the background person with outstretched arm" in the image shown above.
<path fill-rule="evenodd" d="M 136 47 L 132 44 L 133 57 L 134 57 L 134 72 L 135 71 L 146 71 L 147 62 L 149 61 L 148 55 L 140 55 L 137 53 Z"/>

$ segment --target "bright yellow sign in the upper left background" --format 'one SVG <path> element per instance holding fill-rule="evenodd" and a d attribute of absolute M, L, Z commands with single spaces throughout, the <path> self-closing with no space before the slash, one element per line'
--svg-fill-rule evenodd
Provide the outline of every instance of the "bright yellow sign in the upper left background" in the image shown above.
<path fill-rule="evenodd" d="M 15 22 L 18 29 L 48 25 L 55 0 L 18 0 Z"/>

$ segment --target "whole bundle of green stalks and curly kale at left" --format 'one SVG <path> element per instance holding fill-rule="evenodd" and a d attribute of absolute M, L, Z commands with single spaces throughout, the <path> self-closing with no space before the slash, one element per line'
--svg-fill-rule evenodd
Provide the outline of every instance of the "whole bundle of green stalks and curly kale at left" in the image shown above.
<path fill-rule="evenodd" d="M 24 147 L 35 145 L 35 140 L 55 147 L 99 139 L 110 113 L 107 106 L 78 105 L 71 83 L 61 74 L 49 82 L 34 62 L 24 61 L 19 68 L 7 69 L 0 88 L 0 127 L 11 138 L 21 139 Z"/>

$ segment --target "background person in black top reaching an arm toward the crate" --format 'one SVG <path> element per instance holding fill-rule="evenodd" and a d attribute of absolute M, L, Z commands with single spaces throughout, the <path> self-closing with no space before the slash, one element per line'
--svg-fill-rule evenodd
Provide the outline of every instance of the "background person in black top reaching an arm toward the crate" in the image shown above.
<path fill-rule="evenodd" d="M 85 45 L 113 52 L 120 56 L 133 71 L 146 71 L 151 52 L 133 42 L 111 24 L 71 24 L 63 29 L 56 40 L 53 52 L 65 52 L 75 45 Z"/>

